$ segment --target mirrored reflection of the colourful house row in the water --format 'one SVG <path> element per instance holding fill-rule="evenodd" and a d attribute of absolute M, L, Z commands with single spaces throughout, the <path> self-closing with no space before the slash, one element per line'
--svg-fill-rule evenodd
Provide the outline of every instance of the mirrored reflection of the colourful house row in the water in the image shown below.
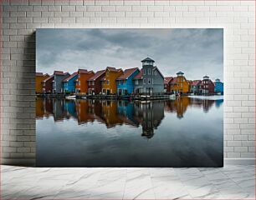
<path fill-rule="evenodd" d="M 58 98 L 37 98 L 36 117 L 54 117 L 55 122 L 73 118 L 78 124 L 100 122 L 107 128 L 129 125 L 142 128 L 141 136 L 152 138 L 165 112 L 173 112 L 178 118 L 185 116 L 187 107 L 202 108 L 204 112 L 215 104 L 220 107 L 223 100 L 206 100 L 179 97 L 166 101 L 110 101 L 94 99 L 66 100 Z"/>

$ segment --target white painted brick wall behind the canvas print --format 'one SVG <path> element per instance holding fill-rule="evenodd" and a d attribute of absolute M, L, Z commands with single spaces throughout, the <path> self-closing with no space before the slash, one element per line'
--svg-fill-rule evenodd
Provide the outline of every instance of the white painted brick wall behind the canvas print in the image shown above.
<path fill-rule="evenodd" d="M 255 157 L 254 1 L 2 2 L 3 163 L 35 157 L 35 28 L 225 28 L 225 158 Z"/>

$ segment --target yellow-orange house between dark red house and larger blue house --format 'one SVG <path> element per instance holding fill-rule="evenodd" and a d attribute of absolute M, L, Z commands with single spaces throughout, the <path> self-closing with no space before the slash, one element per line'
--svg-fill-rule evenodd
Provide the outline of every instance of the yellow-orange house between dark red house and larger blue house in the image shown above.
<path fill-rule="evenodd" d="M 101 79 L 102 81 L 102 93 L 104 94 L 116 94 L 116 78 L 120 77 L 123 73 L 122 69 L 116 69 L 115 67 L 106 67 L 105 77 Z"/>

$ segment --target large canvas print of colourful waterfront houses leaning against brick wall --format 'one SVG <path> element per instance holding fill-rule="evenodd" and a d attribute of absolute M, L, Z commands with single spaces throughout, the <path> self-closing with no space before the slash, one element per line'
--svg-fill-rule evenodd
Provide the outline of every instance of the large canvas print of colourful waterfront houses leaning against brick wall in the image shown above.
<path fill-rule="evenodd" d="M 36 31 L 38 167 L 223 167 L 222 28 Z"/>

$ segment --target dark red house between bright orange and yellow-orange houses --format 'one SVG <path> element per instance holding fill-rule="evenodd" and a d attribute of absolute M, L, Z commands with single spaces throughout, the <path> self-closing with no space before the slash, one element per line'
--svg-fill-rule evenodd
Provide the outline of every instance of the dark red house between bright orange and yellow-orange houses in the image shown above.
<path fill-rule="evenodd" d="M 99 94 L 101 92 L 101 78 L 105 76 L 105 70 L 95 72 L 95 75 L 88 79 L 88 93 Z"/>

